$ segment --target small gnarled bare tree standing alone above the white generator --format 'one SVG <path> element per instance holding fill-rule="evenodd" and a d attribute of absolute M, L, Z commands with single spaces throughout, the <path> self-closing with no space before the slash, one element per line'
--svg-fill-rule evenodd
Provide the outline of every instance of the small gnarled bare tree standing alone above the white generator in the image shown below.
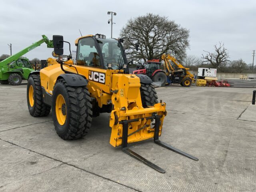
<path fill-rule="evenodd" d="M 224 65 L 229 58 L 228 50 L 224 48 L 224 44 L 219 42 L 219 45 L 214 45 L 215 52 L 210 53 L 208 51 L 206 52 L 206 55 L 202 54 L 202 59 L 204 59 L 204 63 L 210 63 L 212 68 L 220 68 L 222 65 Z"/>

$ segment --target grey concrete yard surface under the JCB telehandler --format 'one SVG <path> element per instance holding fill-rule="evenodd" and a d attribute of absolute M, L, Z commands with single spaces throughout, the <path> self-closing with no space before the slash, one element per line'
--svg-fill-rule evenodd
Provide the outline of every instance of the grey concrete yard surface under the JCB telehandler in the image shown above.
<path fill-rule="evenodd" d="M 161 174 L 109 144 L 109 114 L 94 118 L 86 137 L 64 141 L 52 113 L 30 116 L 26 83 L 0 85 L 0 191 L 256 191 L 253 89 L 156 88 L 167 109 L 160 140 L 199 159 L 152 139 L 129 145 Z"/>

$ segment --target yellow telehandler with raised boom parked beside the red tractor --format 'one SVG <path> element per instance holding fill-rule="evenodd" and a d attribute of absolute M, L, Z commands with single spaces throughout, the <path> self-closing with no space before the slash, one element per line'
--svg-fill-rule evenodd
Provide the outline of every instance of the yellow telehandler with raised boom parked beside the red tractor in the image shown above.
<path fill-rule="evenodd" d="M 191 74 L 176 58 L 170 54 L 162 54 L 162 61 L 167 73 L 167 83 L 178 83 L 184 87 L 190 87 L 194 83 L 194 75 Z"/>

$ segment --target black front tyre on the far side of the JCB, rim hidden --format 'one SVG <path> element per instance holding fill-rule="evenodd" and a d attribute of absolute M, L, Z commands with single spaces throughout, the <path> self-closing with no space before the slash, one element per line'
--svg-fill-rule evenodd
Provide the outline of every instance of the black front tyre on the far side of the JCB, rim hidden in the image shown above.
<path fill-rule="evenodd" d="M 158 103 L 156 90 L 151 84 L 140 84 L 140 96 L 142 106 L 144 108 L 147 108 L 148 106 L 154 106 L 154 104 Z"/>

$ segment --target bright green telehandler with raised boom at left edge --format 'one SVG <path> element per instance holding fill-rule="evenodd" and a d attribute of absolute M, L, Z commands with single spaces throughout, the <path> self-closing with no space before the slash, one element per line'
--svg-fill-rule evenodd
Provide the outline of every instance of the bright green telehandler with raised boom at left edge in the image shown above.
<path fill-rule="evenodd" d="M 26 47 L 20 52 L 2 60 L 0 62 L 0 83 L 19 85 L 22 80 L 27 80 L 28 75 L 33 68 L 27 58 L 21 56 L 31 51 L 32 49 L 40 46 L 42 43 L 46 43 L 48 48 L 53 48 L 52 40 L 49 40 L 45 35 L 42 35 L 42 39 L 32 45 Z"/>

